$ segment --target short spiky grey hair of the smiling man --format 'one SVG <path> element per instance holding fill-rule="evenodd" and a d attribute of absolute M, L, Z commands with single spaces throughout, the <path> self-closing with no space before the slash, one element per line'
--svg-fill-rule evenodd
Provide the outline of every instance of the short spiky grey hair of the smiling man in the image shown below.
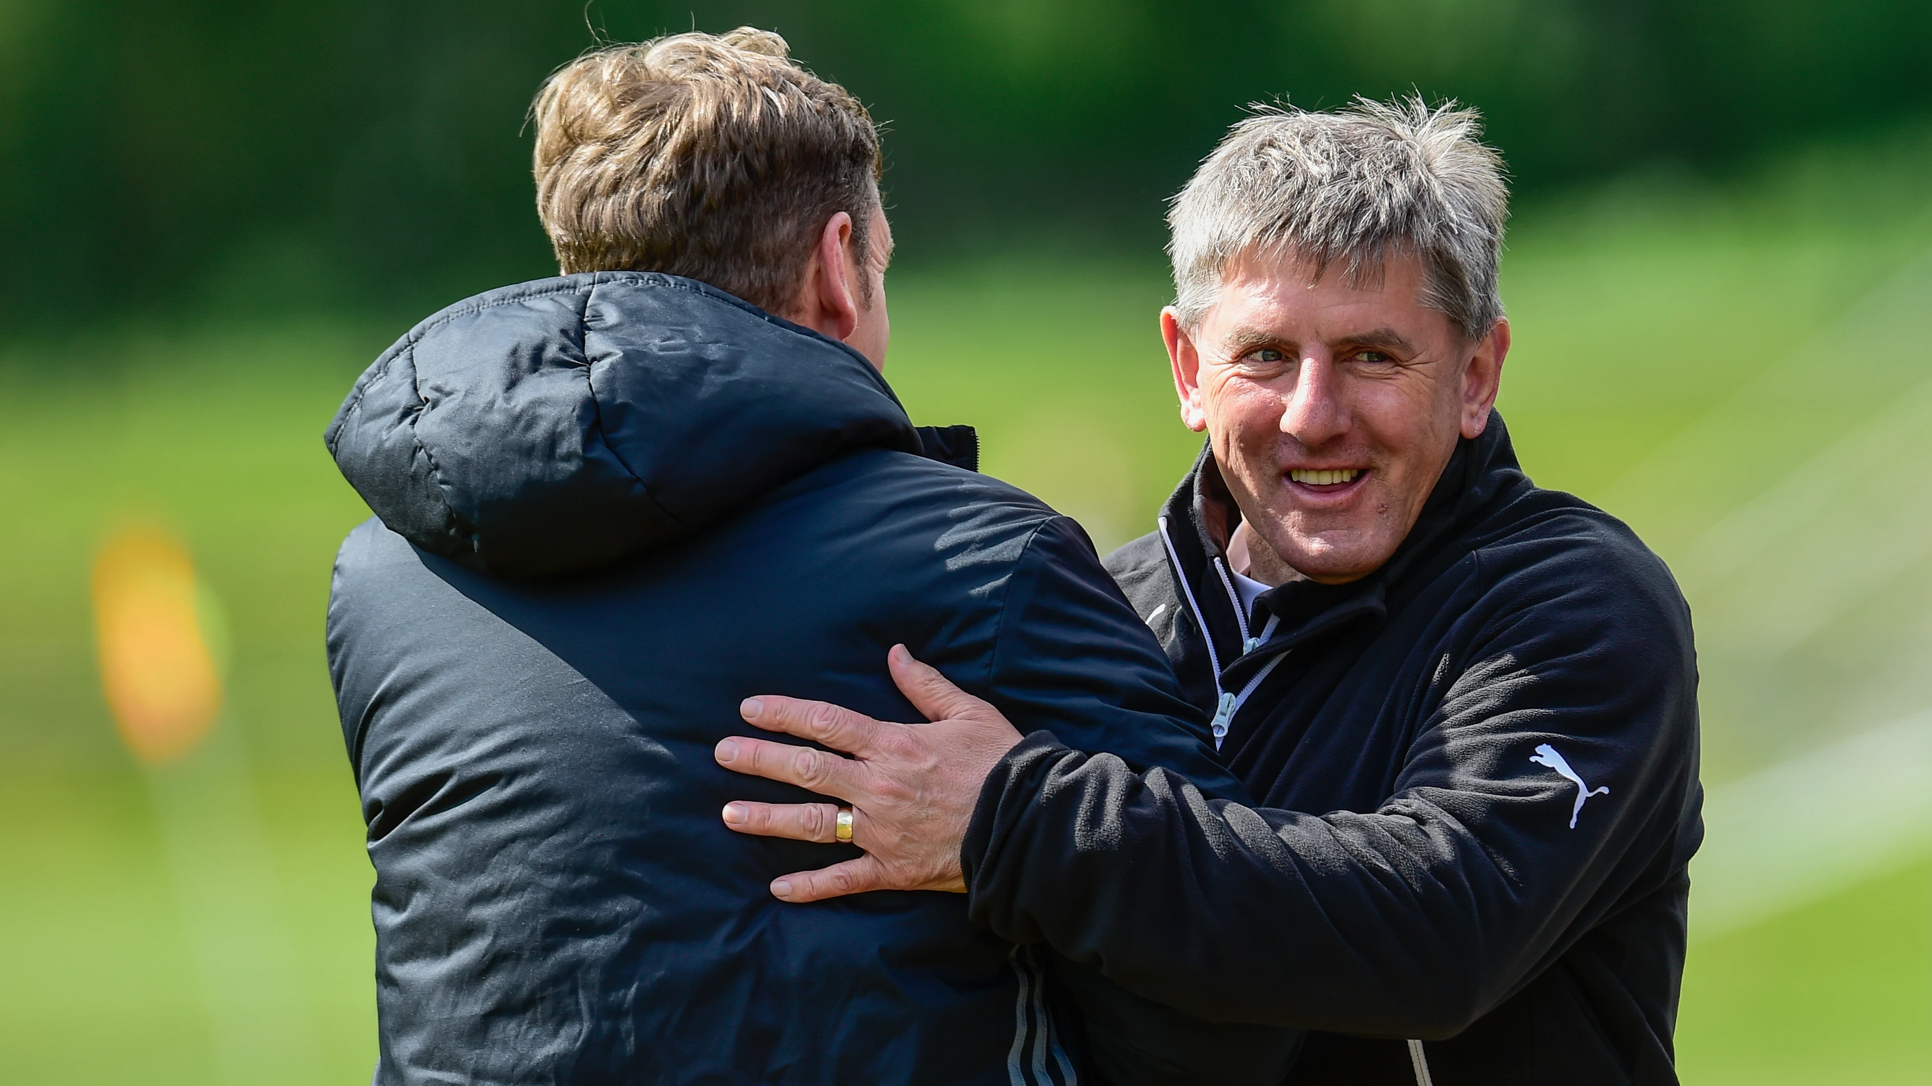
<path fill-rule="evenodd" d="M 1422 303 L 1449 314 L 1466 339 L 1503 316 L 1495 270 L 1509 216 L 1503 160 L 1484 147 L 1482 118 L 1420 96 L 1356 98 L 1316 114 L 1254 106 L 1173 199 L 1167 255 L 1175 311 L 1198 328 L 1227 266 L 1281 253 L 1316 276 L 1381 274 L 1391 255 L 1422 260 Z"/>

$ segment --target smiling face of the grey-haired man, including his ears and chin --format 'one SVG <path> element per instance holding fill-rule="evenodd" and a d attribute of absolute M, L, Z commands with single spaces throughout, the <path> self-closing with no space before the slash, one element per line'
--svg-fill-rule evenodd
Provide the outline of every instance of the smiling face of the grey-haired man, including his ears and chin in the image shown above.
<path fill-rule="evenodd" d="M 1180 419 L 1208 430 L 1258 581 L 1374 573 L 1495 403 L 1509 322 L 1464 339 L 1420 303 L 1414 257 L 1387 258 L 1379 282 L 1347 280 L 1250 257 L 1194 330 L 1161 312 Z"/>

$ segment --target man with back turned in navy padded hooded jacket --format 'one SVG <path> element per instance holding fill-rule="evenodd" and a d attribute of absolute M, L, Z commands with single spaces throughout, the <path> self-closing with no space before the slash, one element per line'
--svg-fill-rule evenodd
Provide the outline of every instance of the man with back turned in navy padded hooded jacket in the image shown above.
<path fill-rule="evenodd" d="M 717 824 L 713 745 L 763 683 L 910 712 L 895 642 L 1030 727 L 1244 793 L 1080 529 L 879 376 L 858 100 L 777 35 L 692 33 L 562 68 L 535 127 L 564 276 L 431 316 L 327 434 L 377 513 L 328 602 L 375 1080 L 1279 1078 L 1294 1032 L 1128 995 L 960 897 L 765 893 L 811 851 Z"/>

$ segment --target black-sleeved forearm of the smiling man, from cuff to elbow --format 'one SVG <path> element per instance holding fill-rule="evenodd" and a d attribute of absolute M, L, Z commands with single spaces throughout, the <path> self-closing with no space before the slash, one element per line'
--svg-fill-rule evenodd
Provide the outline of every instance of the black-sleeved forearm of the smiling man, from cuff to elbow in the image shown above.
<path fill-rule="evenodd" d="M 1596 849 L 1524 872 L 1528 849 L 1511 864 L 1426 795 L 1374 814 L 1258 810 L 1036 733 L 981 795 L 970 909 L 1204 1018 L 1451 1036 L 1561 953 L 1640 860 Z"/>

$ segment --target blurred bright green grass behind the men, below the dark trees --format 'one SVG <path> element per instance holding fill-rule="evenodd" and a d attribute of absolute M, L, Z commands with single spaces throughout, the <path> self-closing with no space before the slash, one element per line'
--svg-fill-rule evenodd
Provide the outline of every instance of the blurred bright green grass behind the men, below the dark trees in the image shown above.
<path fill-rule="evenodd" d="M 1723 434 L 1735 449 L 1725 463 L 1656 463 L 1932 249 L 1913 187 L 1922 174 L 1868 166 L 1799 162 L 1729 189 L 1650 177 L 1526 212 L 1505 264 L 1517 349 L 1503 411 L 1530 475 L 1604 502 L 1675 561 L 1806 449 L 1878 411 L 1891 386 L 1861 394 L 1876 370 L 1853 328 L 1820 357 L 1820 388 L 1835 395 L 1806 395 L 1801 426 L 1789 415 L 1745 415 L 1758 422 Z M 1066 253 L 895 278 L 887 376 L 916 421 L 978 424 L 989 473 L 1080 517 L 1105 550 L 1148 530 L 1198 449 L 1175 415 L 1155 334 L 1165 297 L 1157 262 Z M 1926 312 L 1917 320 L 1922 343 Z M 269 870 L 257 876 L 294 939 L 296 974 L 284 980 L 313 1018 L 321 1061 L 290 1069 L 288 1080 L 367 1078 L 371 872 L 321 646 L 330 556 L 367 511 L 336 476 L 321 430 L 398 332 L 242 320 L 79 328 L 4 349 L 8 1082 L 220 1076 L 211 980 L 170 883 L 153 793 L 114 739 L 93 667 L 87 561 L 129 517 L 182 532 L 228 611 L 222 727 L 251 766 L 269 843 Z M 1907 351 L 1884 372 L 1922 374 L 1922 363 Z M 1922 563 L 1909 575 L 1932 581 Z M 1918 629 L 1932 611 L 1913 592 L 1899 596 L 1895 619 L 1857 611 L 1845 621 L 1872 638 L 1891 638 L 1899 623 Z M 1692 606 L 1702 617 L 1694 592 Z M 1721 660 L 1721 644 L 1706 638 L 1704 650 Z M 1824 735 L 1824 723 L 1758 721 L 1735 689 L 1743 675 L 1706 669 L 1708 781 Z M 1837 696 L 1832 683 L 1870 679 L 1833 675 L 1789 679 L 1797 692 L 1785 700 L 1810 706 L 1804 683 Z M 1694 945 L 1679 1045 L 1687 1082 L 1922 1082 L 1932 866 Z"/>

